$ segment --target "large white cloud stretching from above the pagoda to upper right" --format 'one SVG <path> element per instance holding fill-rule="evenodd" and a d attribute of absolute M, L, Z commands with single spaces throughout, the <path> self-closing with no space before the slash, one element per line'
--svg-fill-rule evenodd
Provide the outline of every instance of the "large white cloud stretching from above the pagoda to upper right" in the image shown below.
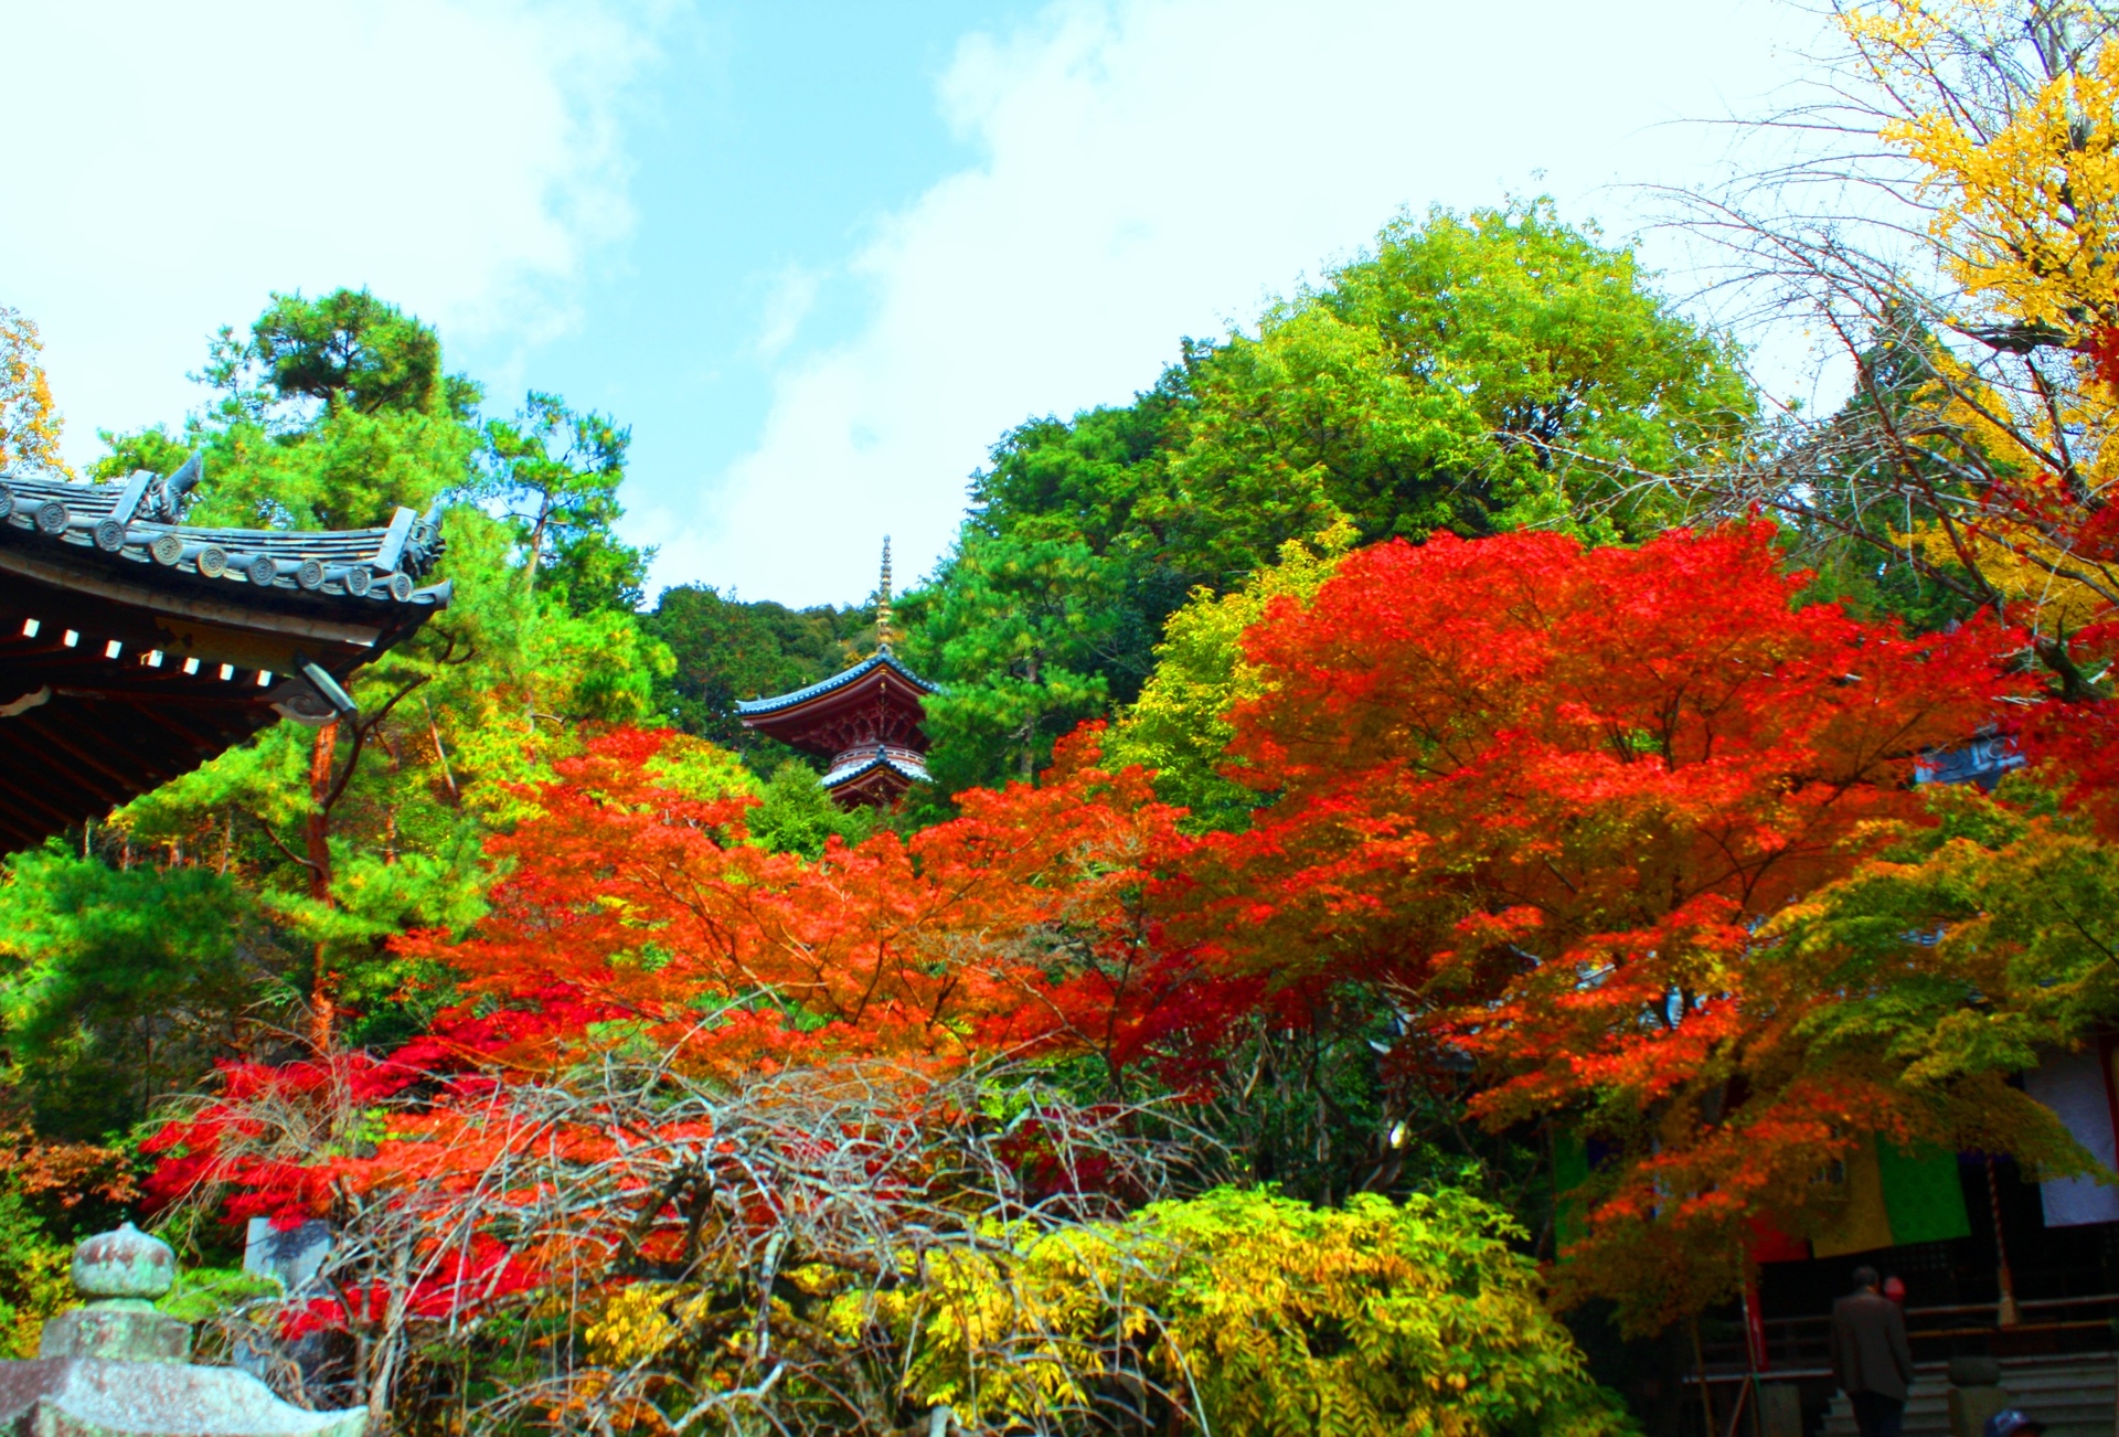
<path fill-rule="evenodd" d="M 1405 206 L 1547 189 L 1625 225 L 1608 184 L 1697 176 L 1721 144 L 1666 121 L 1755 108 L 1776 30 L 1812 23 L 1699 0 L 1119 0 L 971 36 L 939 104 L 981 163 L 850 259 L 873 318 L 790 350 L 759 443 L 697 509 L 642 507 L 659 576 L 848 600 L 886 530 L 920 572 L 1007 426 L 1125 401 L 1180 335 L 1248 322 Z"/>

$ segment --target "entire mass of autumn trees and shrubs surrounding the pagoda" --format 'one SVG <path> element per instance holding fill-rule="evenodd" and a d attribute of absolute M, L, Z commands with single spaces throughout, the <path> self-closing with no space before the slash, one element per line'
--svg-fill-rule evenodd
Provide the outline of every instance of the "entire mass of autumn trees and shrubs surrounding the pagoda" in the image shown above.
<path fill-rule="evenodd" d="M 0 466 L 453 581 L 356 725 L 6 858 L 0 1344 L 131 1217 L 375 1433 L 1676 1433 L 1858 1153 L 2091 1172 L 2015 1075 L 2119 1026 L 2119 40 L 1835 23 L 1816 148 L 1672 199 L 1721 307 L 1407 212 L 1000 434 L 888 812 L 731 712 L 879 596 L 651 596 L 621 415 L 288 292 L 72 473 L 0 309 Z"/>

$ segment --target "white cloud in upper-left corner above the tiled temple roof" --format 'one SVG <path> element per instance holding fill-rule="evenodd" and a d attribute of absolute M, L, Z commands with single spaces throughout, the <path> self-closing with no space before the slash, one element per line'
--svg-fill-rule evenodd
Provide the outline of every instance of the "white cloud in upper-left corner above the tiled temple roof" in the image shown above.
<path fill-rule="evenodd" d="M 619 114 L 657 8 L 595 0 L 0 6 L 0 303 L 44 333 L 68 451 L 176 420 L 265 290 L 375 292 L 456 339 L 570 324 L 631 216 Z"/>

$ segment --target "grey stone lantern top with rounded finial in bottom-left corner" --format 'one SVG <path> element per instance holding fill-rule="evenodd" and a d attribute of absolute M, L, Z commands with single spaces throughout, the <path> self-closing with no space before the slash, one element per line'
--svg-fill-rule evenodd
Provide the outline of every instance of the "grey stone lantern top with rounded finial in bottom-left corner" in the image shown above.
<path fill-rule="evenodd" d="M 13 1437 L 362 1437 L 367 1409 L 305 1412 L 233 1367 L 199 1367 L 191 1325 L 155 1310 L 176 1253 L 131 1223 L 74 1248 L 87 1306 L 44 1323 L 34 1361 L 0 1363 Z"/>

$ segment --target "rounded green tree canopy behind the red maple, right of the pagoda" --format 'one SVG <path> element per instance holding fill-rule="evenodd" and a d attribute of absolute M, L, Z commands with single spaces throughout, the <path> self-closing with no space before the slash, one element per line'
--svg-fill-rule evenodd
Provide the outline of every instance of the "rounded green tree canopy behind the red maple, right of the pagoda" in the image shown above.
<path fill-rule="evenodd" d="M 1257 333 L 1187 341 L 1132 405 L 996 445 L 956 551 L 903 606 L 907 657 L 947 687 L 937 778 L 1040 765 L 1140 695 L 1187 596 L 1290 540 L 1341 521 L 1354 543 L 1636 538 L 1670 515 L 1619 502 L 1613 475 L 1733 443 L 1750 415 L 1731 345 L 1551 201 L 1399 218 Z"/>

